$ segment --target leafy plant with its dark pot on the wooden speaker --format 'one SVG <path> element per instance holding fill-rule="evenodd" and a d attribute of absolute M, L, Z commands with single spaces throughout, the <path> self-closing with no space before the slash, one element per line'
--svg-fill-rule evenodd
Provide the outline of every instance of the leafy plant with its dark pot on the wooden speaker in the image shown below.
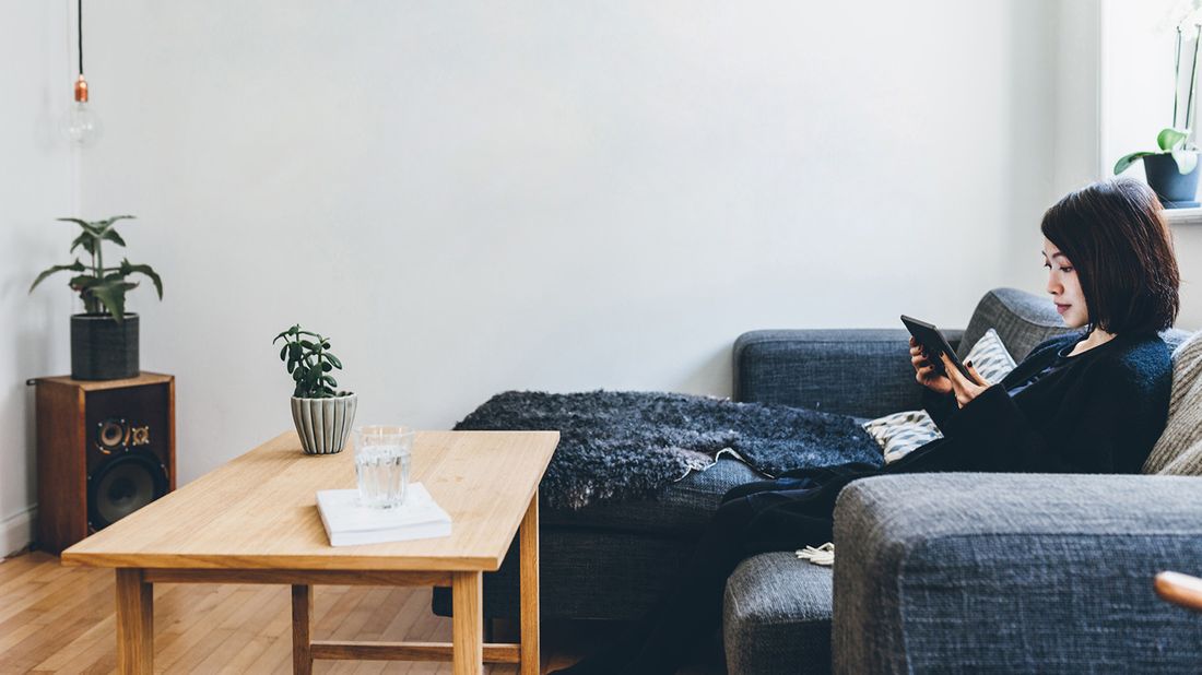
<path fill-rule="evenodd" d="M 113 216 L 88 222 L 75 217 L 60 217 L 73 222 L 83 232 L 71 243 L 71 251 L 82 247 L 91 256 L 91 263 L 79 258 L 71 264 L 54 265 L 37 275 L 29 287 L 30 293 L 47 276 L 59 271 L 75 275 L 69 282 L 79 293 L 84 311 L 71 317 L 71 377 L 76 380 L 119 380 L 138 375 L 138 315 L 125 311 L 125 294 L 138 285 L 130 281 L 131 274 L 142 274 L 154 282 L 159 299 L 162 299 L 162 280 L 150 265 L 136 265 L 123 258 L 121 264 L 105 267 L 103 243 L 125 246 L 125 240 L 113 225 L 133 216 Z"/>

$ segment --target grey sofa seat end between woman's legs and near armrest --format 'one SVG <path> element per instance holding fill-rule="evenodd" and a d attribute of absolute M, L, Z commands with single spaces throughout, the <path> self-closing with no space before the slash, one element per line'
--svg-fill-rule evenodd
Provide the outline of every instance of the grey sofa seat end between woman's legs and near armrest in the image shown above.
<path fill-rule="evenodd" d="M 728 673 L 829 673 L 831 568 L 792 552 L 743 561 L 726 583 L 722 641 Z"/>

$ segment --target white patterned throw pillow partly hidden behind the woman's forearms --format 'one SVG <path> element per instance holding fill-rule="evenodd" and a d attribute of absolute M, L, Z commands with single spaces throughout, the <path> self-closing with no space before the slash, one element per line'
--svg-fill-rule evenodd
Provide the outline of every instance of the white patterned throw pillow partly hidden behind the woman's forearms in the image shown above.
<path fill-rule="evenodd" d="M 965 360 L 972 362 L 972 368 L 993 383 L 1001 382 L 1014 370 L 1014 359 L 1001 344 L 998 331 L 992 328 L 972 345 Z M 935 420 L 922 410 L 895 412 L 865 422 L 864 430 L 881 446 L 885 464 L 897 461 L 916 448 L 944 437 L 935 426 Z"/>

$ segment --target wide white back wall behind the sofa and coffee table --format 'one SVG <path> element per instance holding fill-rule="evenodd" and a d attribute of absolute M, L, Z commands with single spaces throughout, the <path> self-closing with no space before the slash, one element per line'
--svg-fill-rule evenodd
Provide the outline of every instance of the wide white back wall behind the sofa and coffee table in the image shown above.
<path fill-rule="evenodd" d="M 293 322 L 333 336 L 364 423 L 726 394 L 748 329 L 963 324 L 1057 196 L 1037 0 L 93 14 L 83 204 L 137 214 L 163 275 L 132 306 L 184 480 L 290 428 Z"/>

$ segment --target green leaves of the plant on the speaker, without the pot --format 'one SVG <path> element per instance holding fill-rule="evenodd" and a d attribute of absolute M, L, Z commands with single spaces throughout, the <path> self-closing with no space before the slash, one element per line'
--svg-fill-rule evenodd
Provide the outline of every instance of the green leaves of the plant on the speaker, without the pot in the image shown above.
<path fill-rule="evenodd" d="M 125 318 L 125 294 L 133 288 L 137 288 L 137 283 L 129 281 L 131 274 L 143 274 L 150 277 L 154 282 L 155 292 L 159 293 L 159 299 L 162 299 L 162 280 L 155 270 L 150 269 L 150 265 L 136 265 L 129 259 L 123 258 L 121 264 L 117 267 L 105 267 L 105 251 L 103 243 L 112 241 L 118 246 L 125 246 L 125 240 L 121 235 L 113 229 L 113 225 L 119 220 L 132 219 L 133 216 L 113 216 L 106 220 L 97 220 L 94 222 L 88 222 L 76 217 L 60 217 L 61 222 L 73 222 L 83 228 L 79 237 L 76 237 L 75 241 L 71 243 L 71 251 L 75 252 L 76 249 L 83 247 L 84 252 L 91 256 L 91 264 L 85 265 L 79 262 L 79 258 L 69 265 L 54 265 L 50 269 L 37 275 L 34 283 L 29 287 L 29 292 L 32 293 L 34 288 L 42 282 L 47 276 L 59 273 L 59 271 L 75 271 L 79 273 L 71 277 L 69 282 L 72 291 L 79 293 L 79 298 L 83 300 L 84 311 L 88 313 L 103 313 L 108 312 L 113 318 L 120 323 Z M 102 312 L 103 309 L 103 312 Z"/>

